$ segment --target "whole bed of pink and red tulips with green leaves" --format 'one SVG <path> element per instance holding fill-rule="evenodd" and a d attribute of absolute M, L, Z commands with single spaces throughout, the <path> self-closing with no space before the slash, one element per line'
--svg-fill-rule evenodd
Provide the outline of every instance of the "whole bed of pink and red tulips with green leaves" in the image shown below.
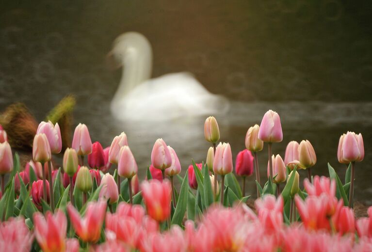
<path fill-rule="evenodd" d="M 158 139 L 139 183 L 124 132 L 103 149 L 79 124 L 63 166 L 54 169 L 60 129 L 42 122 L 33 158 L 21 171 L 0 129 L 0 251 L 372 251 L 372 207 L 369 218 L 360 219 L 352 208 L 355 163 L 364 157 L 361 134 L 340 137 L 338 159 L 347 166 L 342 184 L 330 164 L 330 177 L 312 176 L 316 155 L 307 140 L 289 142 L 284 161 L 272 155 L 272 143 L 281 142 L 283 133 L 279 115 L 269 110 L 260 126 L 248 129 L 246 149 L 236 157 L 241 186 L 229 143 L 218 143 L 214 117 L 207 118 L 204 132 L 211 143 L 205 163 L 193 161 L 180 176 L 176 151 Z M 258 153 L 264 142 L 268 180 L 262 186 Z M 303 190 L 299 169 L 308 175 Z M 254 171 L 257 200 L 251 209 L 245 180 Z"/>

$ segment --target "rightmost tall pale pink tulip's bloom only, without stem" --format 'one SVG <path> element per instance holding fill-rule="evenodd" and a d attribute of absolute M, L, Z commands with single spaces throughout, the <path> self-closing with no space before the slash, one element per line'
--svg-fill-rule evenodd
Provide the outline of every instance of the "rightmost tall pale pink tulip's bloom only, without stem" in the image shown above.
<path fill-rule="evenodd" d="M 362 134 L 347 132 L 340 137 L 337 157 L 340 163 L 360 162 L 364 158 L 364 144 Z"/>

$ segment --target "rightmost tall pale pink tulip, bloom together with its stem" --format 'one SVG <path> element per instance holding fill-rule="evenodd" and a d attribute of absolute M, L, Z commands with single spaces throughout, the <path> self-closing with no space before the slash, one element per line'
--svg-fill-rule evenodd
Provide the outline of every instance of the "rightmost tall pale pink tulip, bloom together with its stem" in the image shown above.
<path fill-rule="evenodd" d="M 340 137 L 337 157 L 340 163 L 351 163 L 351 183 L 349 192 L 349 206 L 353 207 L 355 162 L 364 158 L 364 144 L 362 134 L 356 135 L 348 131 Z"/>

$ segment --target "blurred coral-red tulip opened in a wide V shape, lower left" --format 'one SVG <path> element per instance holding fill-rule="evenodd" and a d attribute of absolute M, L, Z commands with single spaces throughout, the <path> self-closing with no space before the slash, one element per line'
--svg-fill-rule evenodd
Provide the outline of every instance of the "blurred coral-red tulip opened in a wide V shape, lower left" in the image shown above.
<path fill-rule="evenodd" d="M 101 236 L 103 221 L 105 220 L 106 207 L 107 204 L 105 201 L 89 202 L 86 207 L 85 216 L 81 218 L 74 206 L 71 204 L 67 205 L 71 224 L 81 240 L 91 243 L 98 241 Z"/>

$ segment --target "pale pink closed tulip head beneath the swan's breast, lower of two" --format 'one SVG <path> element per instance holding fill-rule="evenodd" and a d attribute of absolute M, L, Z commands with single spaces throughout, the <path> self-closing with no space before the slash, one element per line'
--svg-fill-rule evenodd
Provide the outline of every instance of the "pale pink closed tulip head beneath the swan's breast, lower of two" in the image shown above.
<path fill-rule="evenodd" d="M 138 172 L 136 160 L 127 145 L 120 149 L 117 172 L 119 176 L 126 178 L 132 178 Z"/>

